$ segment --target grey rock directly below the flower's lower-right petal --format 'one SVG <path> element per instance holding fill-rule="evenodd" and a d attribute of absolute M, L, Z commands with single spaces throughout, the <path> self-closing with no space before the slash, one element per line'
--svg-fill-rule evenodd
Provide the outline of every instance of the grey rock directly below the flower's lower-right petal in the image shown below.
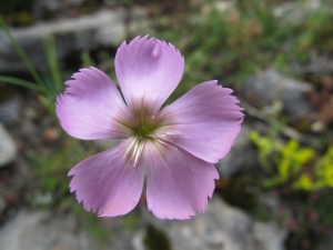
<path fill-rule="evenodd" d="M 150 212 L 144 217 L 164 230 L 173 250 L 283 250 L 287 234 L 276 223 L 256 222 L 219 197 L 209 200 L 206 211 L 191 220 L 159 220 Z"/>

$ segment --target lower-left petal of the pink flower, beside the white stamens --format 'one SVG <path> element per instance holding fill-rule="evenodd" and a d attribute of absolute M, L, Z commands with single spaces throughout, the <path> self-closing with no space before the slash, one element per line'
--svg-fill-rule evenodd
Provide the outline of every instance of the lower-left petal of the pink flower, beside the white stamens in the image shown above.
<path fill-rule="evenodd" d="M 139 202 L 144 166 L 135 167 L 123 158 L 132 138 L 121 144 L 85 159 L 77 164 L 69 176 L 74 176 L 70 189 L 83 201 L 87 211 L 100 217 L 117 217 L 131 211 Z"/>

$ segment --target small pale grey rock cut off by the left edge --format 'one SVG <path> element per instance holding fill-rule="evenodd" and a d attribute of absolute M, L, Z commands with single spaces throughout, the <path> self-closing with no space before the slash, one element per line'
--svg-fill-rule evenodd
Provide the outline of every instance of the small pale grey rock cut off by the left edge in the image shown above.
<path fill-rule="evenodd" d="M 16 154 L 16 142 L 0 123 L 0 168 L 12 162 Z"/>

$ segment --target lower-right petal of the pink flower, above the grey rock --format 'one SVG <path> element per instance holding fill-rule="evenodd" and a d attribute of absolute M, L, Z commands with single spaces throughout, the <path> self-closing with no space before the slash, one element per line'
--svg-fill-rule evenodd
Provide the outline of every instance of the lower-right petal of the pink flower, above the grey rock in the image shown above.
<path fill-rule="evenodd" d="M 219 179 L 212 163 L 154 141 L 145 144 L 144 158 L 148 208 L 155 217 L 183 220 L 204 211 Z"/>

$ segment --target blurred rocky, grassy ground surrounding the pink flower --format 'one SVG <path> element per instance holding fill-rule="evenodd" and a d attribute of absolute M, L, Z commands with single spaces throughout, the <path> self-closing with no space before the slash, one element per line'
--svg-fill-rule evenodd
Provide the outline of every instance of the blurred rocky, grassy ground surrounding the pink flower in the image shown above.
<path fill-rule="evenodd" d="M 0 0 L 1 250 L 333 249 L 332 0 Z M 97 218 L 69 170 L 113 141 L 60 128 L 63 81 L 94 66 L 117 82 L 123 40 L 150 34 L 185 58 L 168 103 L 212 79 L 245 119 L 205 213 L 155 219 L 145 196 Z"/>

